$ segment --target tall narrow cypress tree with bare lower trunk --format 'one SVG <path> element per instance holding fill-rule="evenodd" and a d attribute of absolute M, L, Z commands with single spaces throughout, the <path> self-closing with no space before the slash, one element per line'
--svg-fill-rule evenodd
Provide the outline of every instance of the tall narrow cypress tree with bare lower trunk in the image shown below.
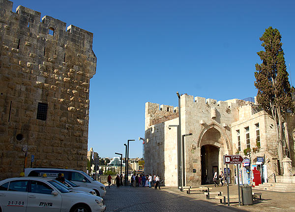
<path fill-rule="evenodd" d="M 294 110 L 281 38 L 280 32 L 272 27 L 266 29 L 260 38 L 265 51 L 257 53 L 263 62 L 255 64 L 256 81 L 254 83 L 258 90 L 258 103 L 276 123 L 274 127 L 277 131 L 277 150 L 280 163 L 285 156 L 283 125 L 285 125 L 285 132 L 287 132 L 287 110 Z M 289 147 L 289 141 L 286 143 Z"/>

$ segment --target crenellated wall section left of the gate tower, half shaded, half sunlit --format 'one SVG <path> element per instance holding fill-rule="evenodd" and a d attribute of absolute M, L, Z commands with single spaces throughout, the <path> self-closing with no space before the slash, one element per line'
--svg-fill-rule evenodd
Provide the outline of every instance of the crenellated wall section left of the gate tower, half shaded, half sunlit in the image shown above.
<path fill-rule="evenodd" d="M 167 126 L 178 124 L 177 117 L 178 107 L 146 103 L 145 173 L 160 175 L 165 180 L 165 185 L 170 186 L 172 179 L 175 176 L 177 178 L 177 137 L 169 133 Z M 175 171 L 169 175 L 172 169 Z"/>

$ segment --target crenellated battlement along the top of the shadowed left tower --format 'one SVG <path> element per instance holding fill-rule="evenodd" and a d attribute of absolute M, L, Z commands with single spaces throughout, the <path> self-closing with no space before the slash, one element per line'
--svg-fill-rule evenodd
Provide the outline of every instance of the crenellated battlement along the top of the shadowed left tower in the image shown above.
<path fill-rule="evenodd" d="M 84 50 L 92 49 L 93 33 L 78 28 L 73 25 L 66 27 L 66 23 L 45 15 L 40 21 L 41 13 L 22 5 L 16 8 L 16 12 L 12 12 L 13 2 L 9 0 L 1 0 L 1 22 L 6 25 L 17 24 L 20 33 L 38 34 L 39 39 L 51 39 L 65 45 L 83 45 Z M 5 20 L 6 19 L 6 20 Z M 17 22 L 17 23 L 15 23 Z M 15 26 L 10 26 L 15 28 Z"/>

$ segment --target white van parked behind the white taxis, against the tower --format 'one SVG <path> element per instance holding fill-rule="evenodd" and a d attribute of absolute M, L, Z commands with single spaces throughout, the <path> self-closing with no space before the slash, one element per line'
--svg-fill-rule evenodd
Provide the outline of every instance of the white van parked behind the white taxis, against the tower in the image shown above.
<path fill-rule="evenodd" d="M 46 174 L 47 177 L 62 173 L 64 178 L 73 181 L 82 187 L 91 188 L 96 192 L 97 196 L 104 197 L 106 195 L 106 186 L 101 182 L 90 178 L 85 172 L 74 169 L 59 168 L 27 168 L 25 169 L 25 177 L 41 177 Z"/>

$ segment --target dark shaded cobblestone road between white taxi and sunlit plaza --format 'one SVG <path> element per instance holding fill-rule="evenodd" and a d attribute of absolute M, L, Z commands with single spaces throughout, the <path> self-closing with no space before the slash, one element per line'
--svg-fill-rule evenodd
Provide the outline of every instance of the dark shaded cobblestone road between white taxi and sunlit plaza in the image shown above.
<path fill-rule="evenodd" d="M 176 189 L 176 188 L 175 188 Z M 177 189 L 176 189 L 177 191 Z M 143 187 L 107 187 L 104 197 L 107 212 L 243 212 L 177 193 L 163 187 L 161 190 Z"/>

